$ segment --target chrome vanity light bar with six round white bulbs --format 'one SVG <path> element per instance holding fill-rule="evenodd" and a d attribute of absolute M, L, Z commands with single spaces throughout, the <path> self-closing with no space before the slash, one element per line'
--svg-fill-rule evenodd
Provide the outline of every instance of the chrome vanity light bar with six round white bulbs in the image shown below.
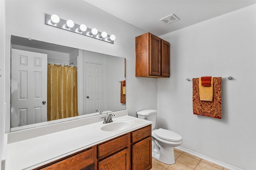
<path fill-rule="evenodd" d="M 104 42 L 114 44 L 114 40 L 116 36 L 108 35 L 106 32 L 98 32 L 96 28 L 87 28 L 84 24 L 78 25 L 75 24 L 72 20 L 62 20 L 56 14 L 49 15 L 45 14 L 45 24 L 57 28 L 61 28 L 63 30 L 75 32 L 77 34 L 81 34 L 84 36 L 96 38 L 98 40 L 102 40 Z"/>

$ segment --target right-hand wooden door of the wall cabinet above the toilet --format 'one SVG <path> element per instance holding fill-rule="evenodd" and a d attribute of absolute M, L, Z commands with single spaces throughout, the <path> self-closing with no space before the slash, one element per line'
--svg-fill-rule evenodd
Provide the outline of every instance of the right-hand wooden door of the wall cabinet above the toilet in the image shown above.
<path fill-rule="evenodd" d="M 170 77 L 170 43 L 161 40 L 161 52 L 162 52 L 162 73 L 161 75 L 164 77 Z"/>

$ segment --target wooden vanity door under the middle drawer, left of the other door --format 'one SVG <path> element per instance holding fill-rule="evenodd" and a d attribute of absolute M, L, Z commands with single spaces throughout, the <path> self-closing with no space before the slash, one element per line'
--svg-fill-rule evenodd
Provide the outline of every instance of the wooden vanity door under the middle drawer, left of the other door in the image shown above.
<path fill-rule="evenodd" d="M 130 169 L 130 152 L 129 149 L 122 150 L 98 164 L 99 170 L 129 170 Z"/>

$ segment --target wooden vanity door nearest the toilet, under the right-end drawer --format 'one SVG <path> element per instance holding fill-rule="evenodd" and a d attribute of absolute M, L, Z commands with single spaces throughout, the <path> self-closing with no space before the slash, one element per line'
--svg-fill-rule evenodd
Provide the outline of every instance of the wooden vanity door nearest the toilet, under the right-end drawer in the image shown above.
<path fill-rule="evenodd" d="M 150 170 L 152 168 L 151 136 L 132 145 L 132 169 Z"/>

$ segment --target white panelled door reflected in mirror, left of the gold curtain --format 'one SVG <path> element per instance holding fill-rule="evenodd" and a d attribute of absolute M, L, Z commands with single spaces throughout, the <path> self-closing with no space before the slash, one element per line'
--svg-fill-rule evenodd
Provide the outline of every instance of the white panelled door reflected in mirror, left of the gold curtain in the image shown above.
<path fill-rule="evenodd" d="M 11 84 L 11 127 L 47 121 L 47 54 L 12 49 Z"/>

